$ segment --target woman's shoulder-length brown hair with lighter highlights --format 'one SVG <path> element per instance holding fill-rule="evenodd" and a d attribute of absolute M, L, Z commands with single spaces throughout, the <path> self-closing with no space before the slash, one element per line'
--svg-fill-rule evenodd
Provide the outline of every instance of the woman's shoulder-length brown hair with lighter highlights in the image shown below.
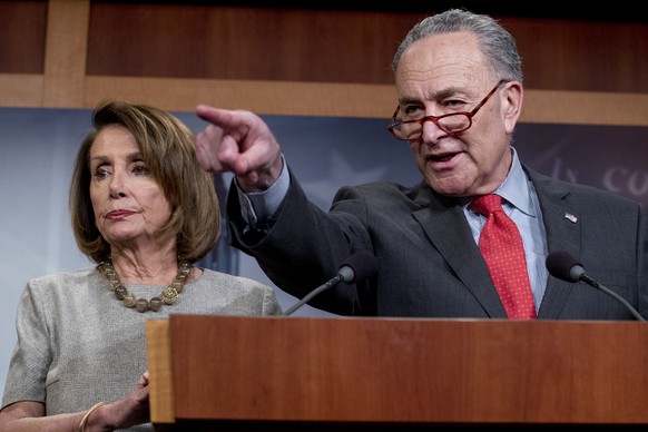
<path fill-rule="evenodd" d="M 90 148 L 109 125 L 128 129 L 145 164 L 171 205 L 171 217 L 158 235 L 176 234 L 179 261 L 195 263 L 220 235 L 220 207 L 214 177 L 196 160 L 195 135 L 171 114 L 147 105 L 105 101 L 92 112 L 92 129 L 77 154 L 69 206 L 79 249 L 96 263 L 110 257 L 110 245 L 99 233 L 90 200 Z"/>

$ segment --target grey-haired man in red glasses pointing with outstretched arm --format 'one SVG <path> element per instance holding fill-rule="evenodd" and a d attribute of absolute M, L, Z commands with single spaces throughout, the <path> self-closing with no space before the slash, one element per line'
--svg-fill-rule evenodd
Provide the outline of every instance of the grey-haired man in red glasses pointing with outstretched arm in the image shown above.
<path fill-rule="evenodd" d="M 610 296 L 550 276 L 544 263 L 554 251 L 578 257 L 591 277 L 648 312 L 646 209 L 551 179 L 518 159 L 511 143 L 522 71 L 505 29 L 488 16 L 449 10 L 414 26 L 392 66 L 399 106 L 390 130 L 409 143 L 423 180 L 344 187 L 328 213 L 308 204 L 262 119 L 197 108 L 210 122 L 198 136 L 200 164 L 236 177 L 227 206 L 236 247 L 298 297 L 352 253 L 370 252 L 379 263 L 375 275 L 311 302 L 342 315 L 634 318 Z M 475 198 L 491 194 L 509 216 L 501 216 L 504 232 L 518 238 L 514 288 L 501 287 L 510 284 L 502 282 L 508 271 L 497 269 L 499 259 L 489 255 L 497 249 L 509 259 L 512 251 L 487 245 L 494 223 Z"/>

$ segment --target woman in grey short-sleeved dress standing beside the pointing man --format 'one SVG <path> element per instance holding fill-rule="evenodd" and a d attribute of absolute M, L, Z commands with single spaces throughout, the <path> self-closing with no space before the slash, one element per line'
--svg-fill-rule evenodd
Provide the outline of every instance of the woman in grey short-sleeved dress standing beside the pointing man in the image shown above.
<path fill-rule="evenodd" d="M 153 430 L 145 322 L 170 313 L 282 314 L 271 287 L 194 266 L 220 210 L 194 135 L 160 109 L 111 101 L 92 115 L 70 187 L 77 244 L 97 265 L 30 281 L 0 430 Z"/>

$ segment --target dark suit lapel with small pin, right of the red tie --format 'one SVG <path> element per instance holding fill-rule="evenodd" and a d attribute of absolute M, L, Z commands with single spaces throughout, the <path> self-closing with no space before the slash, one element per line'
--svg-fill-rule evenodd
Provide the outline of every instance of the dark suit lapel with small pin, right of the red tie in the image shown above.
<path fill-rule="evenodd" d="M 527 171 L 540 200 L 549 253 L 567 251 L 580 256 L 581 215 L 580 209 L 570 203 L 569 189 L 550 177 L 530 169 Z M 573 287 L 573 283 L 549 276 L 538 317 L 558 318 Z"/>

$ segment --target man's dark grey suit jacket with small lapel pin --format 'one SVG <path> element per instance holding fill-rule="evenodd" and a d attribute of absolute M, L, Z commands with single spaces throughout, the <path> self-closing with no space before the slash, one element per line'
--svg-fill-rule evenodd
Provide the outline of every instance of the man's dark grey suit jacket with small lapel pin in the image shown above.
<path fill-rule="evenodd" d="M 648 316 L 646 209 L 608 192 L 524 170 L 538 193 L 549 253 L 570 253 L 589 276 Z M 234 186 L 227 208 L 233 245 L 254 256 L 279 288 L 297 297 L 336 275 L 353 252 L 375 255 L 375 276 L 317 295 L 310 303 L 314 307 L 360 316 L 507 317 L 461 205 L 424 183 L 344 187 L 325 213 L 307 202 L 291 173 L 276 218 L 267 229 L 246 234 Z M 549 276 L 538 318 L 634 316 L 585 283 Z"/>

